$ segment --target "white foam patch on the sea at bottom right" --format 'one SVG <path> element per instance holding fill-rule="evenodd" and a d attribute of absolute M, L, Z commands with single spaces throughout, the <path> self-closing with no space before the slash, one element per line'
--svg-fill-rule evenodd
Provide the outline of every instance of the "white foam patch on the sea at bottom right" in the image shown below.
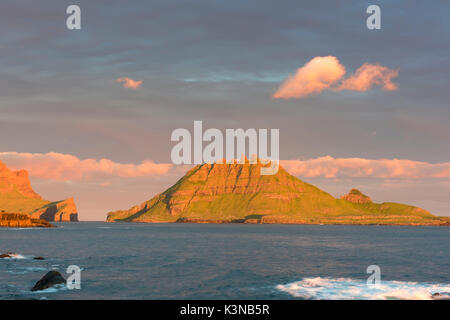
<path fill-rule="evenodd" d="M 434 293 L 448 295 L 450 284 L 382 280 L 377 286 L 368 286 L 366 280 L 316 277 L 280 284 L 276 289 L 303 299 L 430 300 Z"/>

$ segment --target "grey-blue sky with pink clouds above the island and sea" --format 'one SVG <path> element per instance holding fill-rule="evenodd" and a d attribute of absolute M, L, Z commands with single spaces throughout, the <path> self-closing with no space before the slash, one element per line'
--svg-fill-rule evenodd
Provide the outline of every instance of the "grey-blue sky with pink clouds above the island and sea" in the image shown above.
<path fill-rule="evenodd" d="M 81 8 L 68 30 L 66 8 Z M 369 30 L 366 8 L 381 8 Z M 177 128 L 278 128 L 289 172 L 450 215 L 448 1 L 0 4 L 0 160 L 82 220 L 186 166 Z"/>

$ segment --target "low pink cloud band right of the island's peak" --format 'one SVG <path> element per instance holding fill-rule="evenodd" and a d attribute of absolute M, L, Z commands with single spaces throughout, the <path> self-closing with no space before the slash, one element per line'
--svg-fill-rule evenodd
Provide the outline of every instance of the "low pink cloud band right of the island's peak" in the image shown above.
<path fill-rule="evenodd" d="M 284 160 L 281 165 L 307 178 L 449 179 L 450 162 L 429 163 L 406 159 L 333 158 Z"/>

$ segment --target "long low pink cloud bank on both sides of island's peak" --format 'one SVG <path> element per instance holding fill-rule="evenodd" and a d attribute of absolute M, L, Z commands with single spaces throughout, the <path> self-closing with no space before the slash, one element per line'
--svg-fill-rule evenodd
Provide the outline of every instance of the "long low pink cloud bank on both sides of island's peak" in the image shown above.
<path fill-rule="evenodd" d="M 136 178 L 179 175 L 192 166 L 174 166 L 143 160 L 139 164 L 110 159 L 84 159 L 71 154 L 1 152 L 10 169 L 26 169 L 30 176 L 56 181 L 102 181 L 111 177 Z M 300 178 L 450 179 L 450 162 L 429 163 L 408 159 L 334 158 L 281 160 L 281 165 Z"/>

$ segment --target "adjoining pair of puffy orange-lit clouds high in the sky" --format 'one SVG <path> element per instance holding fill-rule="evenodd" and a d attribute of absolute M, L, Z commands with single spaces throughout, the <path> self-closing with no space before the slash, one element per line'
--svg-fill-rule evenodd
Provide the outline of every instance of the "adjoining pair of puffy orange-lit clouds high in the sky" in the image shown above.
<path fill-rule="evenodd" d="M 294 75 L 290 75 L 272 97 L 298 99 L 324 90 L 362 92 L 374 85 L 381 86 L 384 90 L 397 90 L 397 85 L 392 82 L 392 79 L 398 76 L 398 70 L 379 64 L 365 63 L 347 79 L 343 79 L 345 72 L 345 67 L 336 57 L 315 57 L 297 69 Z"/>

